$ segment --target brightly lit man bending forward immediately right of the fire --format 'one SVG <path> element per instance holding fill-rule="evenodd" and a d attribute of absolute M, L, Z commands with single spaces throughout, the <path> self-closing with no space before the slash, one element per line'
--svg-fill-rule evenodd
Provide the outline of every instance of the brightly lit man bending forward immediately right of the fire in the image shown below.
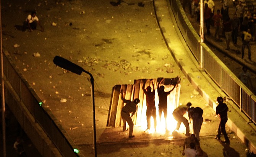
<path fill-rule="evenodd" d="M 188 120 L 183 117 L 183 115 L 187 113 L 187 109 L 190 108 L 191 105 L 191 103 L 187 103 L 187 105 L 178 106 L 178 108 L 174 109 L 172 113 L 173 118 L 177 121 L 176 130 L 179 130 L 180 124 L 181 122 L 183 122 L 186 127 L 186 136 L 190 136 L 190 125 L 188 124 Z M 176 132 L 176 130 L 174 130 L 173 132 Z"/>

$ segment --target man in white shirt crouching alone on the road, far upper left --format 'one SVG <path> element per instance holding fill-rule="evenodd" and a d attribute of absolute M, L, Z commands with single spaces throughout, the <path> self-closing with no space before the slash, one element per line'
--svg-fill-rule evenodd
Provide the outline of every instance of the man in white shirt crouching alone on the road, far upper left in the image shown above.
<path fill-rule="evenodd" d="M 39 22 L 39 19 L 36 16 L 36 11 L 32 11 L 31 14 L 28 15 L 26 21 L 23 23 L 23 31 L 29 29 L 29 31 L 32 32 L 36 29 L 37 24 L 41 27 L 41 31 L 44 32 L 44 27 Z"/>

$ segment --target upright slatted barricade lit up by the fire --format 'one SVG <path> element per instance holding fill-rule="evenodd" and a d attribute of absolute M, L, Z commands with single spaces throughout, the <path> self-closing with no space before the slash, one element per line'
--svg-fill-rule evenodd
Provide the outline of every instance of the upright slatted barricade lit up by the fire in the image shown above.
<path fill-rule="evenodd" d="M 162 78 L 151 79 L 154 83 L 154 88 L 157 91 L 157 85 Z M 150 79 L 138 79 L 134 80 L 134 84 L 123 84 L 123 85 L 115 85 L 112 89 L 112 95 L 109 106 L 109 115 L 107 119 L 107 127 L 122 127 L 123 121 L 121 117 L 121 110 L 124 106 L 124 103 L 121 99 L 122 95 L 120 94 L 121 90 L 124 92 L 124 97 L 126 100 L 133 101 L 135 98 L 139 98 L 140 103 L 138 104 L 137 111 L 132 117 L 135 125 L 140 126 L 140 122 L 146 116 L 146 95 L 143 92 L 142 86 L 146 82 L 146 86 L 149 86 Z M 179 104 L 179 96 L 180 96 L 180 78 L 177 76 L 176 78 L 164 78 L 164 81 L 161 83 L 167 89 L 169 87 L 173 87 L 173 85 L 177 84 L 175 87 L 175 103 L 173 108 L 176 108 Z M 151 84 L 152 86 L 152 84 Z M 158 97 L 157 97 L 158 98 Z M 156 104 L 157 105 L 157 104 Z"/>

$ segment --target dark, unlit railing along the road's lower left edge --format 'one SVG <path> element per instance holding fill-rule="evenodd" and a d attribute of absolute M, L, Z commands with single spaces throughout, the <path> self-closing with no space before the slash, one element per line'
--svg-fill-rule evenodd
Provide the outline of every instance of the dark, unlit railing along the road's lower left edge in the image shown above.
<path fill-rule="evenodd" d="M 6 84 L 6 104 L 10 106 L 16 119 L 29 138 L 31 138 L 31 141 L 38 151 L 42 156 L 47 157 L 55 157 L 56 154 L 54 154 L 54 152 L 60 152 L 62 156 L 66 157 L 83 157 L 83 154 L 79 153 L 78 155 L 74 152 L 73 149 L 76 145 L 68 138 L 65 130 L 58 124 L 51 111 L 41 106 L 42 101 L 28 84 L 24 76 L 15 67 L 8 52 L 5 52 L 5 55 L 3 55 L 3 68 Z M 23 107 L 21 108 L 20 106 Z M 21 109 L 23 111 L 21 111 Z M 25 113 L 26 111 L 28 114 Z M 50 151 L 52 148 L 49 143 L 45 143 L 45 137 L 37 133 L 36 129 L 33 128 L 33 126 L 37 124 L 41 126 L 44 130 L 43 132 L 50 138 L 58 151 Z"/>

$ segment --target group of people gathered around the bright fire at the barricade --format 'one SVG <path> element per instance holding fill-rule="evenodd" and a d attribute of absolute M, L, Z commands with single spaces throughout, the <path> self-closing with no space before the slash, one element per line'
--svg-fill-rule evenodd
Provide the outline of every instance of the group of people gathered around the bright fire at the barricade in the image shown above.
<path fill-rule="evenodd" d="M 164 112 L 165 117 L 165 127 L 167 127 L 167 96 L 175 89 L 177 84 L 173 85 L 172 90 L 165 92 L 164 86 L 160 85 L 161 82 L 164 79 L 161 79 L 159 83 L 157 84 L 157 92 L 159 95 L 159 115 L 162 115 L 162 112 Z M 156 105 L 155 105 L 155 87 L 154 83 L 152 82 L 152 79 L 149 81 L 149 86 L 146 87 L 146 81 L 143 83 L 142 89 L 144 94 L 146 95 L 146 105 L 147 105 L 147 111 L 146 111 L 146 119 L 147 119 L 147 130 L 151 128 L 151 121 L 150 117 L 152 116 L 154 119 L 154 129 L 156 131 L 157 121 L 156 121 Z M 134 115 L 134 113 L 137 110 L 137 106 L 140 102 L 138 98 L 135 98 L 133 101 L 126 100 L 123 95 L 123 90 L 121 90 L 121 98 L 126 105 L 122 108 L 121 116 L 123 119 L 123 131 L 126 131 L 126 122 L 129 125 L 129 138 L 133 138 L 133 121 L 131 117 Z M 214 137 L 217 140 L 220 140 L 220 135 L 222 134 L 225 138 L 224 141 L 221 141 L 222 143 L 230 143 L 226 130 L 225 130 L 225 124 L 227 122 L 227 112 L 228 107 L 223 102 L 224 99 L 222 97 L 217 97 L 216 101 L 218 102 L 218 105 L 216 107 L 216 115 L 219 115 L 220 123 L 218 127 L 217 135 Z M 184 144 L 183 144 L 183 152 L 182 155 L 186 155 L 186 157 L 195 157 L 196 155 L 202 155 L 203 151 L 199 144 L 199 133 L 201 130 L 201 126 L 203 124 L 203 109 L 200 107 L 191 107 L 192 104 L 188 102 L 186 105 L 180 105 L 177 108 L 174 109 L 172 115 L 173 118 L 177 121 L 177 125 L 175 130 L 172 132 L 173 135 L 176 135 L 178 133 L 178 130 L 180 128 L 181 123 L 183 123 L 186 127 L 186 133 L 185 135 L 188 136 L 188 138 L 185 138 Z M 160 113 L 161 112 L 161 113 Z M 184 115 L 187 114 L 189 119 L 186 119 Z M 159 118 L 161 118 L 159 116 Z M 189 120 L 189 121 L 188 121 Z M 190 133 L 190 125 L 189 123 L 193 123 L 193 134 Z M 146 130 L 145 130 L 146 131 Z M 167 128 L 166 128 L 167 131 Z"/>

